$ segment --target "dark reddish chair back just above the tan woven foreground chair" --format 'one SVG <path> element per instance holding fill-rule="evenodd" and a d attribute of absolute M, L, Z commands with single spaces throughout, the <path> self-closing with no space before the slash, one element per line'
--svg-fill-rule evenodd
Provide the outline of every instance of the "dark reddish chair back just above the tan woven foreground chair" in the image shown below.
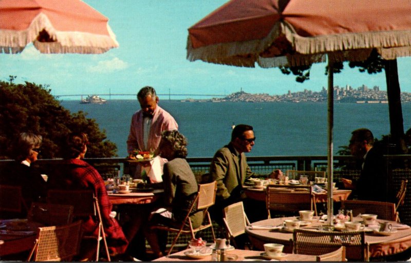
<path fill-rule="evenodd" d="M 73 221 L 73 206 L 32 203 L 28 220 L 45 226 L 63 226 Z"/>

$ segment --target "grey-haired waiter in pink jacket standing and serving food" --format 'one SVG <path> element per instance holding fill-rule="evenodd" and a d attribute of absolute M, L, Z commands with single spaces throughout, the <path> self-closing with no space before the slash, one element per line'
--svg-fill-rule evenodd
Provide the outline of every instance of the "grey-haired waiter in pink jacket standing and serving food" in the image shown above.
<path fill-rule="evenodd" d="M 178 130 L 176 120 L 158 106 L 158 97 L 153 87 L 145 86 L 137 93 L 141 110 L 134 113 L 127 139 L 129 158 L 135 159 L 134 150 L 150 151 L 157 155 L 161 132 Z"/>

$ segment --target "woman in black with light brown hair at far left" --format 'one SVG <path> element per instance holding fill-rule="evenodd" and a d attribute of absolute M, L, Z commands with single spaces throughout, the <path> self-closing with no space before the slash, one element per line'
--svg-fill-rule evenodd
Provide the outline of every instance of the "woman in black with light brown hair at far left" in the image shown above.
<path fill-rule="evenodd" d="M 15 162 L 2 172 L 0 183 L 21 186 L 28 209 L 33 201 L 38 201 L 46 195 L 46 181 L 40 172 L 31 166 L 39 156 L 42 140 L 40 135 L 30 132 L 20 133 L 13 145 L 12 154 Z"/>

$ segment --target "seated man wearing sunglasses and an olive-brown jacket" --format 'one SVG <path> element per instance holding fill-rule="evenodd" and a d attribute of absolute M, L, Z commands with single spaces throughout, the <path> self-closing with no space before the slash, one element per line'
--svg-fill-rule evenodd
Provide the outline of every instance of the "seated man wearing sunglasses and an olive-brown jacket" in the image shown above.
<path fill-rule="evenodd" d="M 211 213 L 213 219 L 219 225 L 222 223 L 222 209 L 238 201 L 244 202 L 246 214 L 251 221 L 263 219 L 259 218 L 260 215 L 255 212 L 260 204 L 255 204 L 256 201 L 246 199 L 247 196 L 242 189 L 245 181 L 254 175 L 244 154 L 250 152 L 254 144 L 253 127 L 239 124 L 234 127 L 231 133 L 230 143 L 219 149 L 211 161 L 210 176 L 213 181 L 217 181 L 216 202 Z M 251 213 L 250 211 L 253 210 L 254 212 Z M 265 211 L 265 208 L 263 208 L 263 211 Z"/>

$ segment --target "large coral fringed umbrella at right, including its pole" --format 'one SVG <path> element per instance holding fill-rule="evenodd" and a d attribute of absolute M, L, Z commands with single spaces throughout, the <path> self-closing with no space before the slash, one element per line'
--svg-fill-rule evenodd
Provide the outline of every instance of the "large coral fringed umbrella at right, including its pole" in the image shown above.
<path fill-rule="evenodd" d="M 332 218 L 333 62 L 411 55 L 409 0 L 231 0 L 189 28 L 187 58 L 241 67 L 328 58 L 328 218 Z"/>

